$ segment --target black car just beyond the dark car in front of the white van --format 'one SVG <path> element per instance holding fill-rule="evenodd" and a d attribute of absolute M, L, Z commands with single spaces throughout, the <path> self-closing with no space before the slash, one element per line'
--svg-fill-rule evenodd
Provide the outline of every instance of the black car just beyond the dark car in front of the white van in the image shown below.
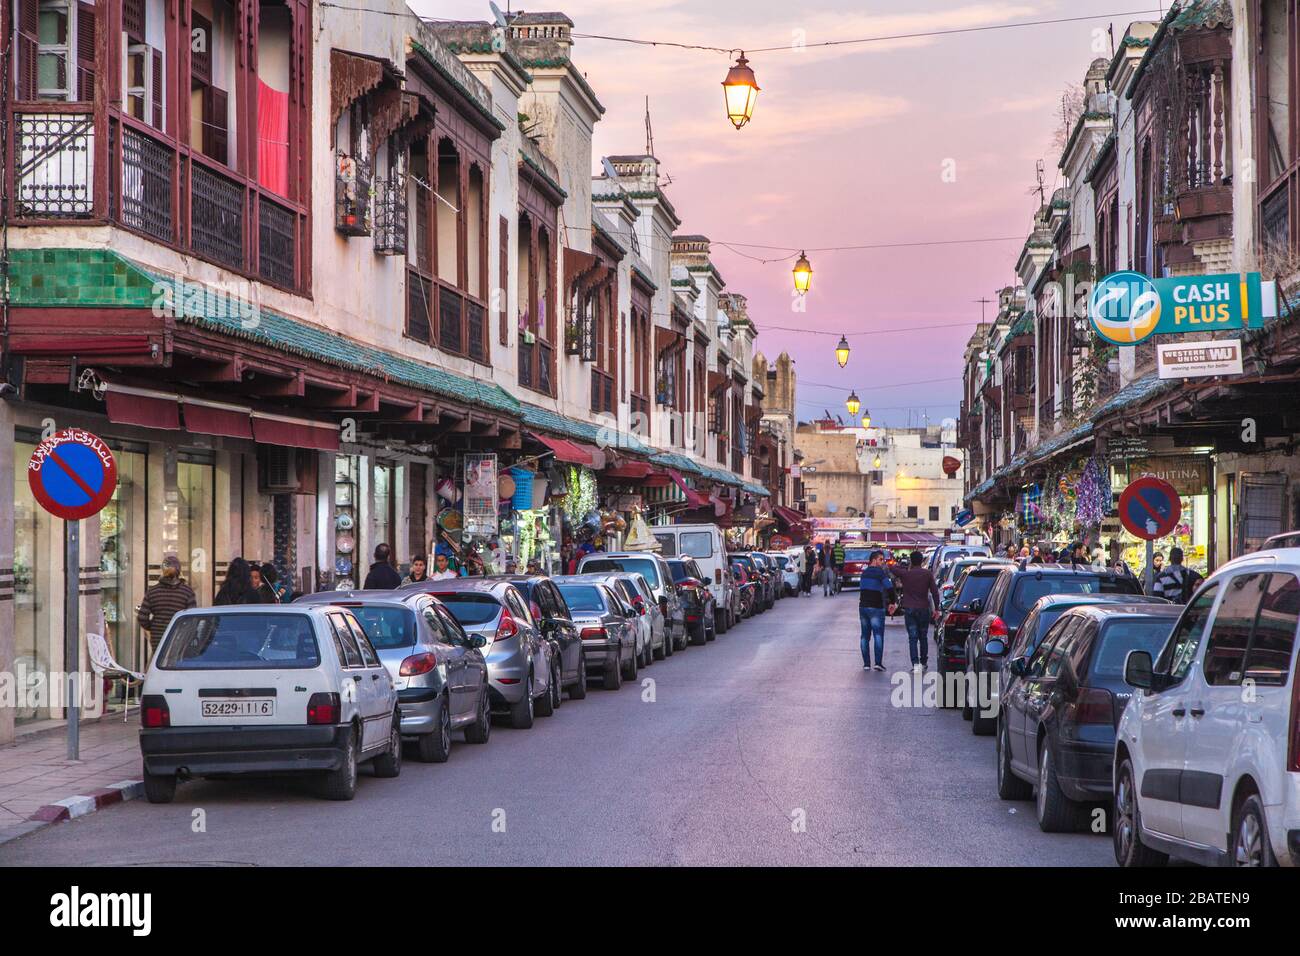
<path fill-rule="evenodd" d="M 962 717 L 971 732 L 991 735 L 997 727 L 997 678 L 1002 658 L 1015 643 L 1024 618 L 1048 594 L 1141 594 L 1136 578 L 1091 564 L 1023 564 L 1004 567 L 988 597 L 972 604 L 975 620 L 966 635 L 966 698 Z M 988 653 L 991 640 L 998 653 Z"/>

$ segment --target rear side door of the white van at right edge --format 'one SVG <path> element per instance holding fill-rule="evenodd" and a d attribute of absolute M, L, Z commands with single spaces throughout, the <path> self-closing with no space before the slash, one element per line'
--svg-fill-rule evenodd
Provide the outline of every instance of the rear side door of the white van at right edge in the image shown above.
<path fill-rule="evenodd" d="M 1179 783 L 1183 839 L 1188 843 L 1227 849 L 1231 827 L 1227 801 L 1232 799 L 1230 787 L 1234 786 L 1234 778 L 1227 774 L 1243 753 L 1257 753 L 1260 744 L 1266 748 L 1264 753 L 1274 748 L 1273 741 L 1258 739 L 1264 736 L 1258 731 L 1265 710 L 1279 710 L 1273 705 L 1286 695 L 1286 666 L 1291 662 L 1296 623 L 1287 604 L 1294 588 L 1292 575 L 1262 571 L 1234 575 L 1222 585 L 1223 597 L 1201 663 L 1192 669 L 1190 678 L 1187 760 Z M 1268 623 L 1260 633 L 1265 609 Z M 1257 645 L 1260 650 L 1251 654 L 1257 674 L 1252 674 L 1252 684 L 1244 687 L 1247 654 Z M 1279 667 L 1282 656 L 1275 652 L 1282 645 L 1286 645 L 1286 665 Z M 1261 684 L 1261 679 L 1271 687 Z M 1278 732 L 1277 739 L 1286 740 L 1284 718 Z M 1252 741 L 1251 737 L 1257 739 Z"/>

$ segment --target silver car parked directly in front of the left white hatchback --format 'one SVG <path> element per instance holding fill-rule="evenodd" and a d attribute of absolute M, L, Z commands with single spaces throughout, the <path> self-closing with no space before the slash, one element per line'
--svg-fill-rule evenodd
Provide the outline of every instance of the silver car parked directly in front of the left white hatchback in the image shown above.
<path fill-rule="evenodd" d="M 294 605 L 346 607 L 393 678 L 402 713 L 402 736 L 413 737 L 420 760 L 442 763 L 451 756 L 451 734 L 486 744 L 491 734 L 488 639 L 468 635 L 438 598 L 394 591 L 322 591 Z"/>

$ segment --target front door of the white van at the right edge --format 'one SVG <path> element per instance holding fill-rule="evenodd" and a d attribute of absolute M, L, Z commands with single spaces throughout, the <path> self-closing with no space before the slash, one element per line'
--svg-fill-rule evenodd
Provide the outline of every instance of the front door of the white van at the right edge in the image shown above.
<path fill-rule="evenodd" d="M 1202 588 L 1179 618 L 1154 667 L 1164 675 L 1165 685 L 1160 691 L 1138 692 L 1141 695 L 1141 719 L 1134 743 L 1139 750 L 1138 797 L 1143 827 L 1175 839 L 1183 836 L 1179 788 L 1192 730 L 1187 715 L 1190 674 L 1218 594 L 1218 581 Z"/>

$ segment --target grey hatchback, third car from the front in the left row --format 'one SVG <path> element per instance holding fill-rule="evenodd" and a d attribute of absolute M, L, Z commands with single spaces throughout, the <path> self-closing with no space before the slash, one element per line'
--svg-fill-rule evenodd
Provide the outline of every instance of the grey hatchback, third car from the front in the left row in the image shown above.
<path fill-rule="evenodd" d="M 465 633 L 488 639 L 489 700 L 494 711 L 510 715 L 512 727 L 528 730 L 534 717 L 554 713 L 560 662 L 519 588 L 493 578 L 450 578 L 407 584 L 395 593 L 403 592 L 433 594 Z"/>

